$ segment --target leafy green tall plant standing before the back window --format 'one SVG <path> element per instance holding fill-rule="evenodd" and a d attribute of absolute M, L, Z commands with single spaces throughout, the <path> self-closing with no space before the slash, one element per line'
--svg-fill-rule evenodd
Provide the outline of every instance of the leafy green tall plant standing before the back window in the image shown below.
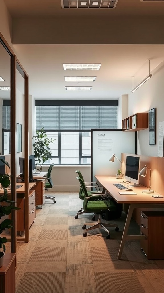
<path fill-rule="evenodd" d="M 54 142 L 54 139 L 49 139 L 47 137 L 46 131 L 44 128 L 41 130 L 36 130 L 36 135 L 33 136 L 35 138 L 34 147 L 34 156 L 36 159 L 36 164 L 39 166 L 39 171 L 41 172 L 43 163 L 45 163 L 50 156 L 52 155 L 50 151 L 50 143 Z M 50 158 L 51 159 L 51 158 Z"/>

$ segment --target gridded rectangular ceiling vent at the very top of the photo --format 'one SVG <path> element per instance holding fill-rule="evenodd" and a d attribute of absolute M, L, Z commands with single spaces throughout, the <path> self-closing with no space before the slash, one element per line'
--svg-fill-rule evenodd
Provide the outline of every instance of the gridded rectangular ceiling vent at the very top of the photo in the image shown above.
<path fill-rule="evenodd" d="M 118 0 L 61 0 L 62 8 L 116 8 Z"/>

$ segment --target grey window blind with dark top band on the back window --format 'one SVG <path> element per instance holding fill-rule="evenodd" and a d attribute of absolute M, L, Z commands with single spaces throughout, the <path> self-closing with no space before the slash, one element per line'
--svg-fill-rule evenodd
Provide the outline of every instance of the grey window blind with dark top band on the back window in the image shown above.
<path fill-rule="evenodd" d="M 38 102 L 39 101 L 39 102 Z M 117 100 L 36 100 L 36 129 L 90 130 L 117 129 Z M 100 104 L 100 105 L 97 105 Z M 101 105 L 102 104 L 102 105 Z"/>

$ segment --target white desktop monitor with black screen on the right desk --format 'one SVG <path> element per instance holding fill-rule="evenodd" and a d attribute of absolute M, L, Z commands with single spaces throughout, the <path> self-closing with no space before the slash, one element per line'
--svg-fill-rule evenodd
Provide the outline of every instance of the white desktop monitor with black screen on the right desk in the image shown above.
<path fill-rule="evenodd" d="M 125 179 L 134 183 L 130 187 L 139 187 L 139 157 L 136 155 L 126 156 Z"/>

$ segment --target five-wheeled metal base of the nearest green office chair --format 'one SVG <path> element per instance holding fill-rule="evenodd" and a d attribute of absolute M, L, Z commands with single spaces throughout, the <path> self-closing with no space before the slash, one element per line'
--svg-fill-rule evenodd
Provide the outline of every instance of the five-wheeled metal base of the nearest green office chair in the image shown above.
<path fill-rule="evenodd" d="M 101 219 L 100 214 L 99 214 L 98 222 L 96 222 L 96 223 L 84 223 L 84 226 L 82 227 L 82 229 L 85 230 L 85 233 L 83 233 L 83 237 L 87 236 L 87 231 L 97 229 L 97 228 L 102 229 L 102 230 L 104 230 L 104 231 L 106 231 L 108 233 L 107 236 L 106 236 L 107 239 L 110 239 L 110 232 L 105 227 L 116 227 L 115 231 L 119 231 L 119 228 L 118 228 L 118 226 L 116 224 L 102 223 L 101 220 L 102 219 Z M 90 227 L 86 229 L 86 226 L 90 226 Z"/>

